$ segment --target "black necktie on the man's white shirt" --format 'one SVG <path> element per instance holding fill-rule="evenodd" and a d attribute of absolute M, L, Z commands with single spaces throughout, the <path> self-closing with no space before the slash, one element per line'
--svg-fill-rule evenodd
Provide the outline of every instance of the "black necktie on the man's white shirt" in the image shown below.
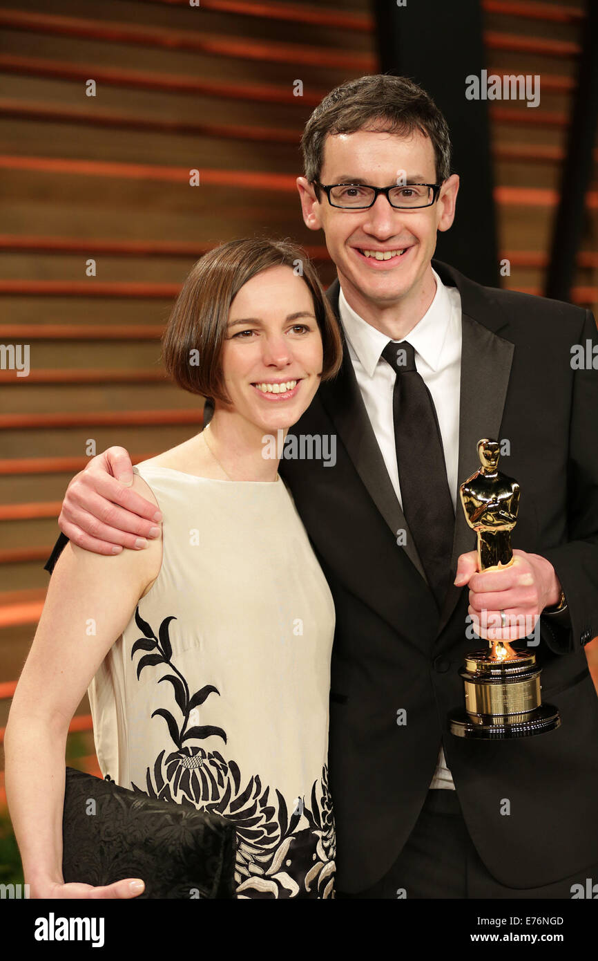
<path fill-rule="evenodd" d="M 393 418 L 403 513 L 440 611 L 450 579 L 455 512 L 436 409 L 410 343 L 391 340 L 382 357 L 396 373 Z"/>

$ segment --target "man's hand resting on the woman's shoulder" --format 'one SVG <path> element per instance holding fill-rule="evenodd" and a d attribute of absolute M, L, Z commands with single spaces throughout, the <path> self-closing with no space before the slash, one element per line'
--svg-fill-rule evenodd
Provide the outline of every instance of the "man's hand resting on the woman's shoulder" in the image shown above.
<path fill-rule="evenodd" d="M 133 488 L 132 462 L 124 447 L 92 457 L 69 483 L 59 526 L 69 540 L 94 554 L 142 550 L 159 537 L 162 519 L 152 502 Z"/>

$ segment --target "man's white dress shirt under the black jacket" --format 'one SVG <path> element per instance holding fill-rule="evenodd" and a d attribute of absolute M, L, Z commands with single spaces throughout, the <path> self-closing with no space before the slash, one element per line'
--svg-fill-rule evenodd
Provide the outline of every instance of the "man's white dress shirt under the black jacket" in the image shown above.
<path fill-rule="evenodd" d="M 416 369 L 430 391 L 436 407 L 443 440 L 446 478 L 453 507 L 456 509 L 461 394 L 461 297 L 456 287 L 444 286 L 436 271 L 432 270 L 432 273 L 436 281 L 434 300 L 419 323 L 402 339 L 412 344 Z M 380 357 L 390 338 L 371 327 L 371 324 L 348 306 L 343 288 L 339 294 L 339 313 L 347 336 L 349 357 L 371 427 L 402 507 L 393 419 L 396 374 L 391 365 Z M 455 789 L 450 771 L 446 767 L 442 746 L 430 787 Z"/>

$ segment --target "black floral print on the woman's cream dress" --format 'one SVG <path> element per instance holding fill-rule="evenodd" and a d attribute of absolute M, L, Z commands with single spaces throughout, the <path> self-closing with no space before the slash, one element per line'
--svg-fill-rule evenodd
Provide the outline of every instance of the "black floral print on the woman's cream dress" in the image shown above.
<path fill-rule="evenodd" d="M 191 724 L 192 711 L 197 714 L 208 697 L 220 692 L 213 684 L 205 684 L 190 693 L 172 659 L 169 628 L 173 620 L 173 615 L 166 617 L 156 636 L 139 607 L 135 609 L 135 624 L 143 636 L 132 645 L 131 656 L 145 652 L 137 662 L 137 678 L 148 667 L 168 668 L 171 673 L 157 682 L 172 684 L 180 719 L 163 707 L 153 712 L 152 718 L 166 722 L 176 750 L 161 751 L 153 769 L 148 767 L 145 791 L 136 784 L 132 790 L 160 801 L 185 799 L 234 823 L 237 898 L 334 898 L 336 843 L 326 765 L 308 801 L 299 798 L 289 813 L 280 792 L 262 784 L 259 775 L 246 783 L 234 760 L 189 744 L 216 736 L 226 745 L 227 734 L 222 727 Z"/>

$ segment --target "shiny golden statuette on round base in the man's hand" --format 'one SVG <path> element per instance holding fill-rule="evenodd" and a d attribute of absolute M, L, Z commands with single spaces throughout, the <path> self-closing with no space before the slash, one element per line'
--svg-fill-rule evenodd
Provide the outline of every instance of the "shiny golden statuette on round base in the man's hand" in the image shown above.
<path fill-rule="evenodd" d="M 466 522 L 477 533 L 479 571 L 498 571 L 514 563 L 511 531 L 517 522 L 520 487 L 498 470 L 500 446 L 487 437 L 478 441 L 481 467 L 459 488 Z M 501 611 L 501 619 L 507 617 Z M 514 651 L 508 640 L 492 640 L 487 651 L 466 655 L 460 676 L 465 681 L 465 711 L 449 716 L 458 737 L 504 740 L 554 730 L 558 710 L 540 701 L 536 654 Z"/>

